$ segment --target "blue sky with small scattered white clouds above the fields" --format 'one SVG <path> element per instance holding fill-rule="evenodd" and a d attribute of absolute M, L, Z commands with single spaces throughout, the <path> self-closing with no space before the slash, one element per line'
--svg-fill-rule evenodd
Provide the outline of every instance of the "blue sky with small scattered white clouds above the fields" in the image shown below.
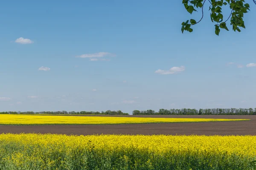
<path fill-rule="evenodd" d="M 0 111 L 255 108 L 255 16 L 218 37 L 207 9 L 181 33 L 181 0 L 2 2 Z"/>

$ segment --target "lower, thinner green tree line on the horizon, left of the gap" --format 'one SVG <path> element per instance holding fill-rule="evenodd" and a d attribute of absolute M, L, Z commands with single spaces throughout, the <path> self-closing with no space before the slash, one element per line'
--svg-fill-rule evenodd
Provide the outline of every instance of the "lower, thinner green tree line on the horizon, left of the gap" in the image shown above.
<path fill-rule="evenodd" d="M 8 112 L 0 112 L 0 114 L 105 114 L 105 115 L 129 115 L 128 113 L 123 113 L 122 111 L 102 111 L 102 112 L 94 112 L 94 111 L 42 111 L 42 112 L 33 112 L 33 111 L 26 111 L 26 112 L 20 112 L 20 111 L 8 111 Z"/>

